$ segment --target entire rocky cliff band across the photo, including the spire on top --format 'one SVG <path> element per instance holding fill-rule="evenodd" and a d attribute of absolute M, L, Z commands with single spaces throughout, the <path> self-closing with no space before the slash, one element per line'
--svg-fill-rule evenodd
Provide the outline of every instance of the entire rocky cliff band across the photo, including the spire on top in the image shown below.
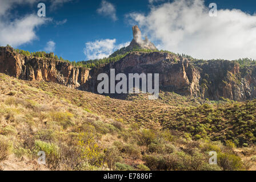
<path fill-rule="evenodd" d="M 186 96 L 243 101 L 256 97 L 256 65 L 241 67 L 237 61 L 199 61 L 170 52 L 157 51 L 149 40 L 142 40 L 137 26 L 134 39 L 121 60 L 87 69 L 65 61 L 23 56 L 11 47 L 0 48 L 0 72 L 29 81 L 47 81 L 97 93 L 99 73 L 159 73 L 160 89 Z M 133 47 L 155 52 L 131 51 Z"/>

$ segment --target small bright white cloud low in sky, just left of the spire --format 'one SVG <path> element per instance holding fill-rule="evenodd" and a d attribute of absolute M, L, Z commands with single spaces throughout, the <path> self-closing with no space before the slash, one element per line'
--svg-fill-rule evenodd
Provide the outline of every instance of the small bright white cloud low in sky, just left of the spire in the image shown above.
<path fill-rule="evenodd" d="M 109 57 L 111 53 L 119 48 L 126 47 L 129 43 L 115 44 L 115 39 L 96 40 L 95 42 L 87 42 L 83 52 L 87 59 L 102 59 Z"/>

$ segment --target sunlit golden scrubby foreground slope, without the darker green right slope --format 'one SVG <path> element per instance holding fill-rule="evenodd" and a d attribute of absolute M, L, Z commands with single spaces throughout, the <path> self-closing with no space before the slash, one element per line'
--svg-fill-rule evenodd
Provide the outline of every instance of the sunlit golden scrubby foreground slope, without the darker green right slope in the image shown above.
<path fill-rule="evenodd" d="M 175 114 L 186 111 L 170 103 L 143 96 L 117 100 L 3 74 L 0 94 L 2 169 L 15 161 L 17 167 L 30 165 L 19 161 L 36 162 L 38 151 L 46 152 L 46 166 L 34 168 L 39 170 L 237 170 L 250 169 L 255 161 L 253 145 L 236 149 L 233 142 L 192 140 L 190 133 L 163 129 L 163 121 L 173 123 Z M 213 150 L 218 166 L 209 165 Z"/>

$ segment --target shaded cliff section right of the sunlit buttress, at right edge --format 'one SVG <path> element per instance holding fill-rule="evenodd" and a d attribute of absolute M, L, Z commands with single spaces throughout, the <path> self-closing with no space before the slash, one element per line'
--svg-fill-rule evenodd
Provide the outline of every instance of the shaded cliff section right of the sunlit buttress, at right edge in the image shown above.
<path fill-rule="evenodd" d="M 201 69 L 201 93 L 205 98 L 218 100 L 248 100 L 256 97 L 256 67 L 240 68 L 234 61 L 207 61 Z"/>

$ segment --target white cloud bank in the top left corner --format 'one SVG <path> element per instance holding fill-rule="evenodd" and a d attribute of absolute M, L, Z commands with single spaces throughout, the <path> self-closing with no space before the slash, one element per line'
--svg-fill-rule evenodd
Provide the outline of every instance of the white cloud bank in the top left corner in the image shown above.
<path fill-rule="evenodd" d="M 48 0 L 54 9 L 58 5 L 73 0 Z M 21 44 L 31 42 L 37 38 L 35 28 L 54 22 L 51 18 L 39 18 L 36 13 L 21 16 L 21 18 L 14 18 L 11 10 L 15 9 L 18 5 L 34 5 L 39 3 L 39 0 L 0 0 L 0 45 L 6 46 L 20 46 Z M 37 6 L 35 6 L 36 8 Z M 37 9 L 35 9 L 37 10 Z M 55 24 L 66 23 L 66 19 Z"/>

